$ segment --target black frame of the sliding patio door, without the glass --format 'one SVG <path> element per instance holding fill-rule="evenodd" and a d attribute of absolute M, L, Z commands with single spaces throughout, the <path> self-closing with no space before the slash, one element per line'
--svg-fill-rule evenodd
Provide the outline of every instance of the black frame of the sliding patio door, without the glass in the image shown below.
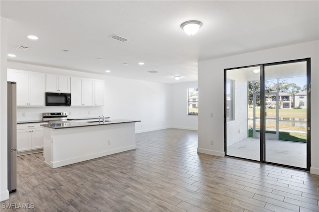
<path fill-rule="evenodd" d="M 265 91 L 265 66 L 270 65 L 281 65 L 281 64 L 288 64 L 288 63 L 296 63 L 296 62 L 306 62 L 307 64 L 307 168 L 295 167 L 285 164 L 278 164 L 273 162 L 266 161 L 266 91 Z M 251 65 L 251 66 L 243 66 L 243 67 L 236 67 L 236 68 L 229 68 L 224 69 L 224 152 L 225 156 L 228 157 L 235 157 L 227 155 L 227 118 L 226 118 L 226 80 L 227 80 L 227 70 L 234 70 L 234 69 L 242 69 L 242 68 L 249 68 L 249 67 L 260 67 L 260 160 L 259 162 L 279 165 L 288 168 L 300 169 L 310 171 L 311 167 L 311 59 L 310 58 L 303 58 L 297 60 L 289 60 L 289 61 L 282 61 L 282 62 L 274 62 L 274 63 L 266 63 L 266 64 L 258 64 L 258 65 Z M 247 158 L 244 158 L 247 159 Z M 252 160 L 252 159 L 247 159 Z M 252 160 L 255 161 L 255 160 Z"/>

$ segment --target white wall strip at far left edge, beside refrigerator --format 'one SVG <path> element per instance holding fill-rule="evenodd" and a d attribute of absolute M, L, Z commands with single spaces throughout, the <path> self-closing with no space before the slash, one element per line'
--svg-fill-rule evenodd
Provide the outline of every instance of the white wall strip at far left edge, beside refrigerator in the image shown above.
<path fill-rule="evenodd" d="M 0 201 L 9 198 L 7 190 L 7 19 L 0 17 Z"/>

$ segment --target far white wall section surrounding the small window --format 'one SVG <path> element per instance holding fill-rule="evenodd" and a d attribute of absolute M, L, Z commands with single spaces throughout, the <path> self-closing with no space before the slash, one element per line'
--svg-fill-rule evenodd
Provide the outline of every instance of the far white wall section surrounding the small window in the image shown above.
<path fill-rule="evenodd" d="M 171 102 L 171 117 L 172 127 L 180 129 L 198 129 L 198 116 L 187 115 L 187 89 L 197 88 L 197 82 L 178 83 L 172 85 L 172 102 Z M 200 98 L 200 91 L 198 90 Z M 200 101 L 198 101 L 200 104 Z M 201 112 L 201 111 L 198 111 Z"/>

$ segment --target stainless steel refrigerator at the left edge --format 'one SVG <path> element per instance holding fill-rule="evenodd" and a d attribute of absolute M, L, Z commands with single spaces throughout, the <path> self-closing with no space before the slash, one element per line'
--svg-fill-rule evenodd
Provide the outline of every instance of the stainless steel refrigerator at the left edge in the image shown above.
<path fill-rule="evenodd" d="M 16 83 L 7 82 L 8 191 L 16 191 Z"/>

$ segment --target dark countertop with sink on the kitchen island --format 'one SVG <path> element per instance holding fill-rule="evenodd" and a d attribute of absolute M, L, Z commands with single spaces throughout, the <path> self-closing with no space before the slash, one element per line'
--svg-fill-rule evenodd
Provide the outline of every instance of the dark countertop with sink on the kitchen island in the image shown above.
<path fill-rule="evenodd" d="M 119 123 L 131 123 L 131 122 L 140 122 L 141 120 L 129 120 L 129 119 L 115 119 L 115 120 L 106 120 L 103 121 L 94 121 L 94 122 L 66 122 L 66 123 L 54 123 L 54 124 L 41 124 L 43 127 L 48 127 L 52 129 L 65 129 L 73 127 L 85 127 L 85 126 L 97 126 L 105 124 L 119 124 Z"/>

